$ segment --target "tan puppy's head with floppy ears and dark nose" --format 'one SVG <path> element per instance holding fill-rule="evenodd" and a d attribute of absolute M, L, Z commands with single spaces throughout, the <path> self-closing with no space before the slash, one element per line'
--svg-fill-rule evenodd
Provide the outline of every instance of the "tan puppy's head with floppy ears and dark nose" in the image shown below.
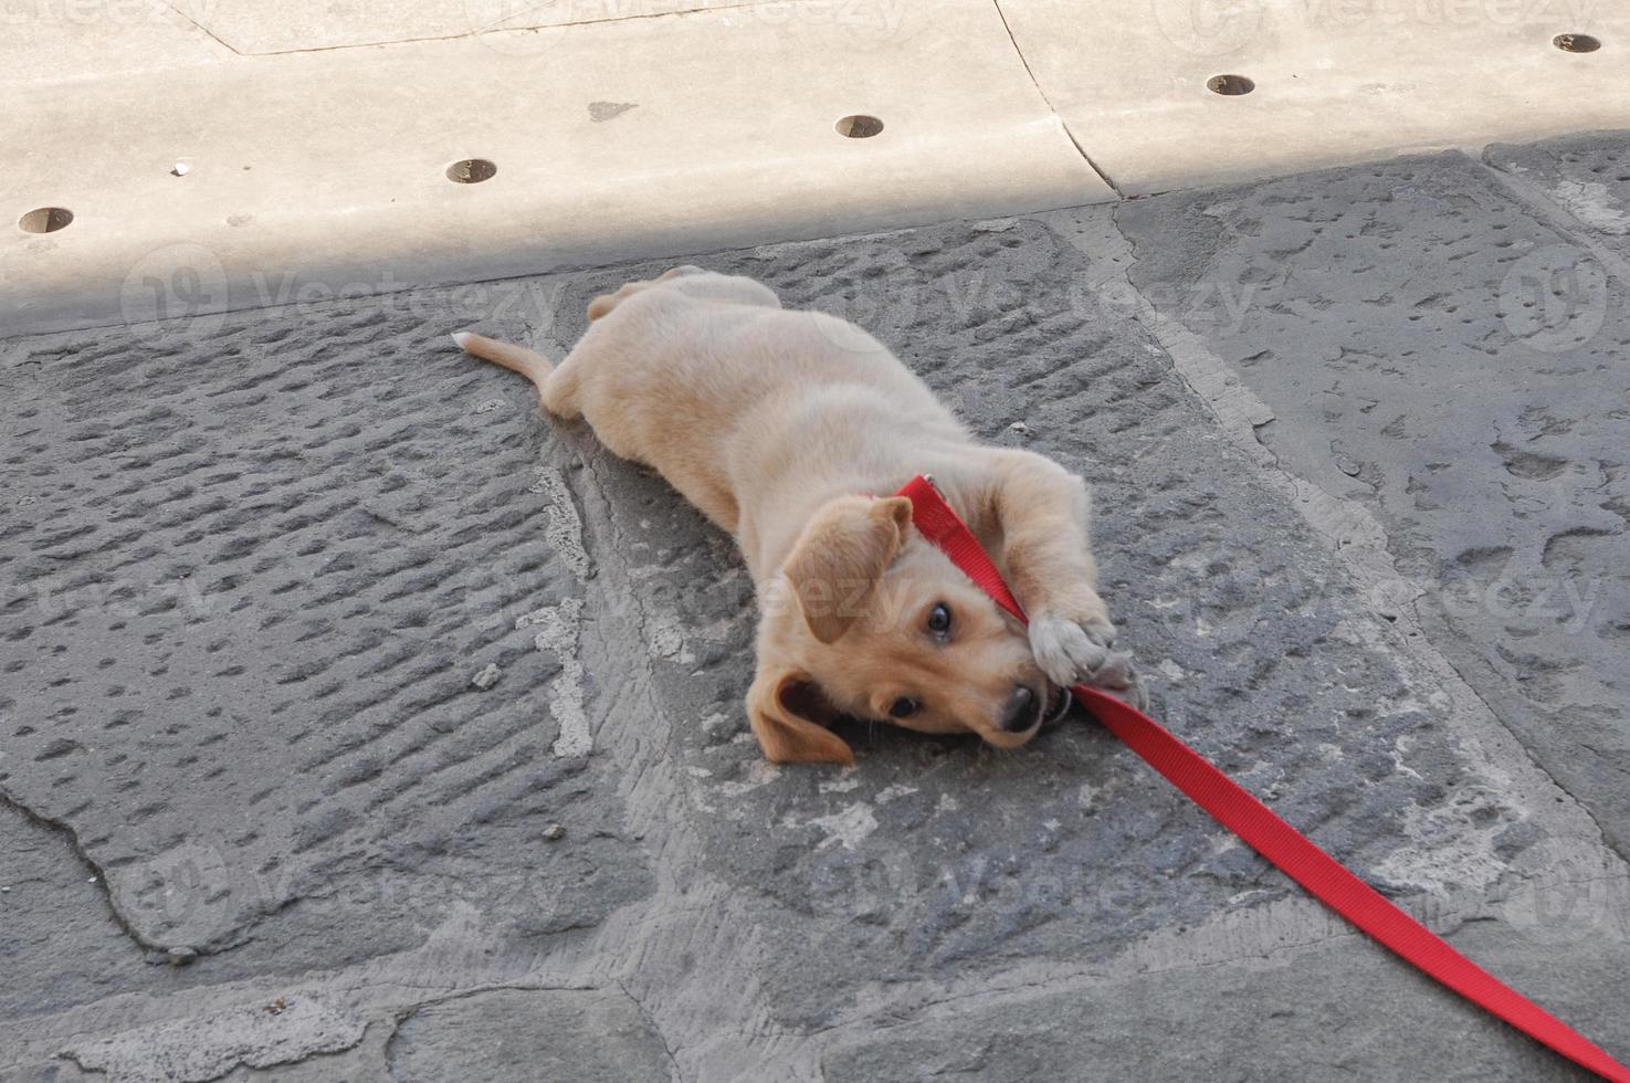
<path fill-rule="evenodd" d="M 826 504 L 763 607 L 747 708 L 776 762 L 852 762 L 838 716 L 1012 749 L 1068 706 L 1024 626 L 913 530 L 905 497 Z"/>

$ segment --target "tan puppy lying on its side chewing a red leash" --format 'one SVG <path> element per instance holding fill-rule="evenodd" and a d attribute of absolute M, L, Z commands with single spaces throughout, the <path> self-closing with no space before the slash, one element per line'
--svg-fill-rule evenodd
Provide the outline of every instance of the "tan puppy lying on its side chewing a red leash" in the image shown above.
<path fill-rule="evenodd" d="M 975 444 L 869 334 L 699 267 L 597 297 L 588 320 L 557 367 L 453 339 L 530 377 L 546 411 L 587 418 L 735 537 L 758 586 L 747 713 L 766 757 L 852 762 L 828 729 L 838 716 L 1011 749 L 1068 708 L 1068 685 L 1133 687 L 1095 590 L 1086 484 Z M 996 558 L 1029 634 L 888 496 L 919 473 Z"/>

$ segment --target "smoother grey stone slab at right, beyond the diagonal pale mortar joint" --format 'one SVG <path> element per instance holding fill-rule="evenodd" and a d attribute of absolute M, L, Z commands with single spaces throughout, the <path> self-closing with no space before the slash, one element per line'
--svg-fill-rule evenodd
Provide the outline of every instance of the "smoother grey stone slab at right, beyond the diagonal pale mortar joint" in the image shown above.
<path fill-rule="evenodd" d="M 1622 206 L 1622 142 L 1591 161 L 1498 158 L 1602 171 L 1539 179 L 1601 225 Z M 1591 248 L 1623 238 L 1565 228 L 1459 155 L 1128 206 L 1118 222 L 1134 282 L 1157 284 L 1156 305 L 1271 411 L 1263 447 L 1379 520 L 1392 600 L 1625 853 L 1630 318 L 1625 279 Z M 1172 302 L 1201 284 L 1236 312 Z"/>

